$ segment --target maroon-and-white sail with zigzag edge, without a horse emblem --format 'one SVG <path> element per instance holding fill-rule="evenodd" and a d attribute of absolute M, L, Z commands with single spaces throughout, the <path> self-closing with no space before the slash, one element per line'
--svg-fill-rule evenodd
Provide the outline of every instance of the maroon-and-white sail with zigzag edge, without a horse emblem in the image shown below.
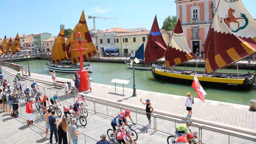
<path fill-rule="evenodd" d="M 194 54 L 188 46 L 179 19 L 165 52 L 165 66 L 170 67 L 181 64 L 193 59 L 193 56 Z"/>

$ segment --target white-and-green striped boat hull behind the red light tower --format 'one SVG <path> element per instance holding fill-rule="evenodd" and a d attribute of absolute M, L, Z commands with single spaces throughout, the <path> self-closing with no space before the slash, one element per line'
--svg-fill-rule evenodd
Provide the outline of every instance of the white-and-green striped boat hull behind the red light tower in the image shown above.
<path fill-rule="evenodd" d="M 68 67 L 68 66 L 54 66 L 51 65 L 51 62 L 46 63 L 47 68 L 50 71 L 55 72 L 65 72 L 65 73 L 76 73 L 79 69 L 79 67 Z M 84 69 L 88 70 L 88 72 L 92 72 L 92 64 L 84 64 Z"/>

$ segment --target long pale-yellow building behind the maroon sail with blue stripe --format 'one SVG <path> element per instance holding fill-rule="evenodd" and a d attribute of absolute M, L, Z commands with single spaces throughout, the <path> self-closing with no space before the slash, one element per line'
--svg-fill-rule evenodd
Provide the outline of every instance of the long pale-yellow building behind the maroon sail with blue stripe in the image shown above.
<path fill-rule="evenodd" d="M 144 43 L 144 51 L 147 45 L 150 31 L 124 32 L 114 36 L 115 48 L 119 49 L 119 54 L 130 54 L 136 51 Z M 161 30 L 166 45 L 169 42 L 169 32 Z"/>

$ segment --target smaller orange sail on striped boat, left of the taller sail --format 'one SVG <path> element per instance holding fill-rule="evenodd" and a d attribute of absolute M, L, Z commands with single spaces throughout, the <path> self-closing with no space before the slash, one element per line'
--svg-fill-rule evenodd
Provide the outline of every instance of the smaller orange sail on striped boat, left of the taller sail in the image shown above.
<path fill-rule="evenodd" d="M 65 47 L 64 27 L 61 28 L 51 50 L 52 63 L 58 63 L 68 58 Z"/>

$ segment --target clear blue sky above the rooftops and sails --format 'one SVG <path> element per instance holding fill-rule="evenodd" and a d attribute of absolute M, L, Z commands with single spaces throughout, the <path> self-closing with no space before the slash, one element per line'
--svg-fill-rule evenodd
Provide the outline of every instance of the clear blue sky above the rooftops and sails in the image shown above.
<path fill-rule="evenodd" d="M 255 0 L 242 0 L 245 7 L 256 18 Z M 88 16 L 118 19 L 96 19 L 96 29 L 112 27 L 140 28 L 150 30 L 155 14 L 161 28 L 168 15 L 176 15 L 174 0 L 6 0 L 0 5 L 0 38 L 14 37 L 17 32 L 36 34 L 48 32 L 58 35 L 60 24 L 73 29 L 84 9 L 89 29 L 93 20 Z"/>

